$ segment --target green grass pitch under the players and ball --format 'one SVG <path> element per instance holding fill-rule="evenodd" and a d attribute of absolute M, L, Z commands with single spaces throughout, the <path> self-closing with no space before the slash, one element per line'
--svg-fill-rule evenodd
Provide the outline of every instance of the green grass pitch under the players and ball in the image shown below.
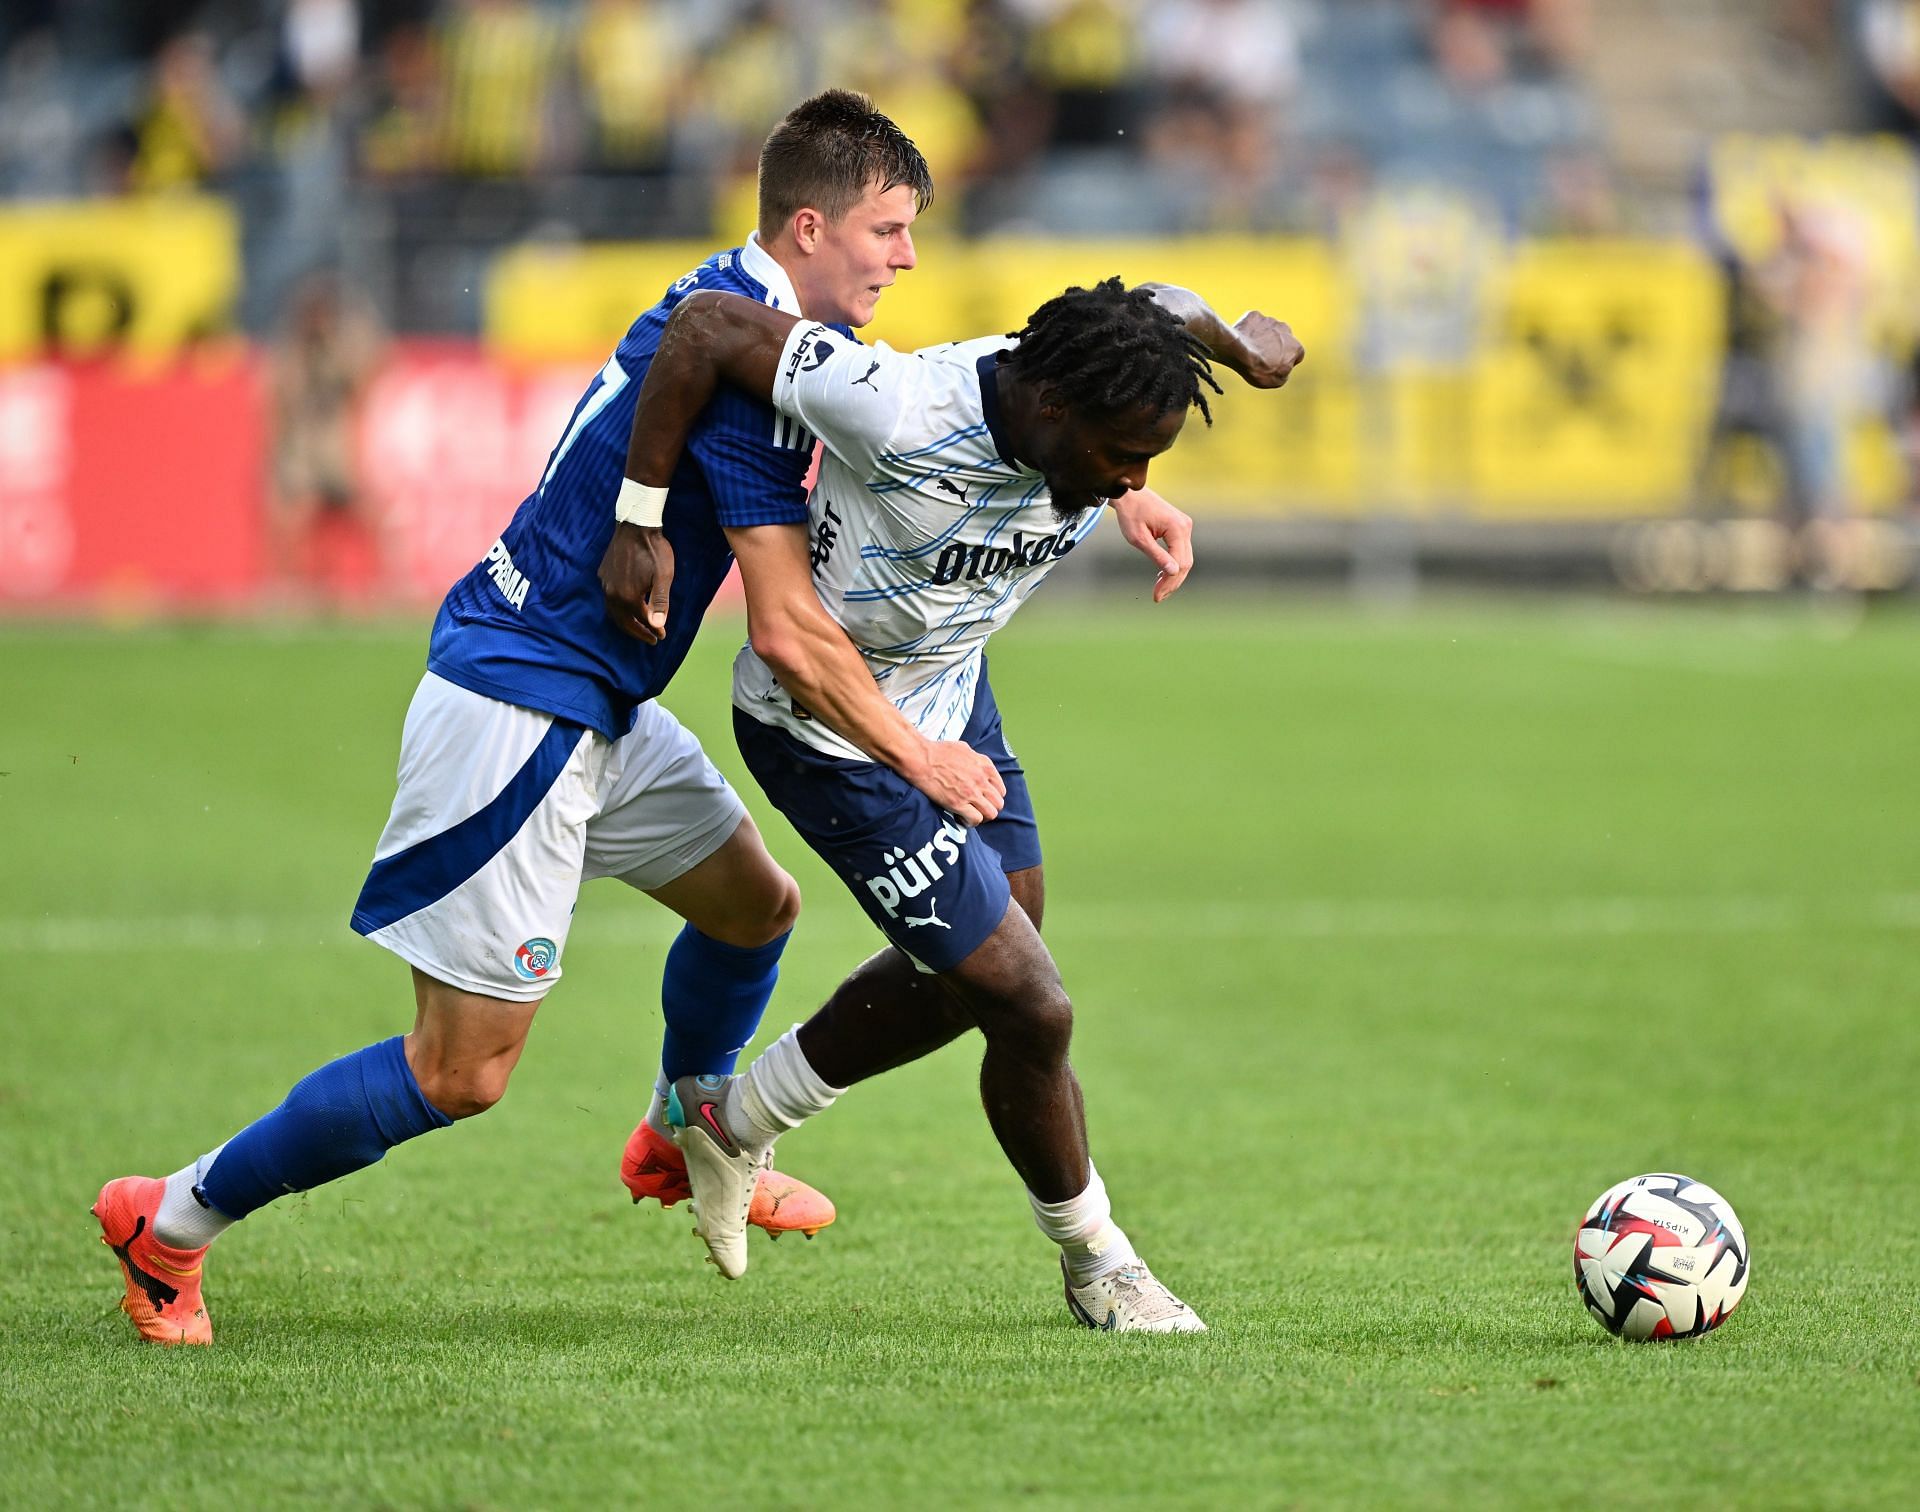
<path fill-rule="evenodd" d="M 739 775 L 735 626 L 670 704 Z M 1043 604 L 996 643 L 1116 1211 L 1212 1324 L 1081 1332 L 966 1042 L 781 1147 L 722 1282 L 614 1176 L 670 925 L 588 888 L 488 1117 L 263 1211 L 211 1351 L 86 1205 L 411 1023 L 346 915 L 424 624 L 0 633 L 0 1504 L 1895 1506 L 1920 1481 L 1920 618 Z M 768 1023 L 874 936 L 806 892 Z M 1718 1186 L 1753 1284 L 1622 1345 L 1571 1230 Z"/>

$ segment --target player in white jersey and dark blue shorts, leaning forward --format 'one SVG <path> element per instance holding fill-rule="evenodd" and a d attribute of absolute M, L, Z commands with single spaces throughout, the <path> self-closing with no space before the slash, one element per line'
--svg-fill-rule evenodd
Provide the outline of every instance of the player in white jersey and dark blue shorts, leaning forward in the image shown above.
<path fill-rule="evenodd" d="M 822 601 L 924 737 L 970 744 L 1006 781 L 1000 814 L 968 829 L 824 729 L 753 645 L 739 654 L 747 766 L 891 948 L 745 1075 L 674 1084 L 668 1121 L 697 1232 L 724 1274 L 747 1266 L 753 1174 L 780 1134 L 977 1027 L 987 1117 L 1060 1245 L 1073 1316 L 1106 1330 L 1204 1328 L 1114 1224 L 1087 1153 L 1068 1063 L 1071 1004 L 1039 936 L 1039 831 L 983 649 L 1104 505 L 1139 497 L 1187 411 L 1212 418 L 1210 357 L 1279 388 L 1304 353 L 1269 317 L 1229 328 L 1185 290 L 1119 280 L 1068 290 L 1014 338 L 918 353 L 860 347 L 726 295 L 689 299 L 668 322 L 636 411 L 630 476 L 672 472 L 720 378 L 820 436 L 810 516 Z M 614 612 L 664 587 L 603 581 Z"/>

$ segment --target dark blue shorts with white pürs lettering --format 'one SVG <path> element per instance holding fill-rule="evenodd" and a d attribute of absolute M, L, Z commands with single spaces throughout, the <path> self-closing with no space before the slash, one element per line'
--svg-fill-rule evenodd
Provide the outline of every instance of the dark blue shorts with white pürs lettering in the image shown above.
<path fill-rule="evenodd" d="M 1006 781 L 998 817 L 968 829 L 877 762 L 845 762 L 733 710 L 733 739 L 760 791 L 839 873 L 893 944 L 933 971 L 972 956 L 1006 917 L 1006 873 L 1041 863 L 1027 777 L 1006 748 L 981 668 L 960 739 Z"/>

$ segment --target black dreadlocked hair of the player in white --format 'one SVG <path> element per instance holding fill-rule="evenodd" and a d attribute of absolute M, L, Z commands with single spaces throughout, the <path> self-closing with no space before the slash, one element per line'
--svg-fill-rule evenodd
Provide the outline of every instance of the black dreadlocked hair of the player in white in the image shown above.
<path fill-rule="evenodd" d="M 1071 407 L 1156 416 L 1196 407 L 1213 424 L 1202 386 L 1219 393 L 1219 384 L 1206 345 L 1142 288 L 1119 278 L 1069 288 L 1010 334 L 1020 345 L 1008 361 L 1020 376 L 1050 384 Z"/>

